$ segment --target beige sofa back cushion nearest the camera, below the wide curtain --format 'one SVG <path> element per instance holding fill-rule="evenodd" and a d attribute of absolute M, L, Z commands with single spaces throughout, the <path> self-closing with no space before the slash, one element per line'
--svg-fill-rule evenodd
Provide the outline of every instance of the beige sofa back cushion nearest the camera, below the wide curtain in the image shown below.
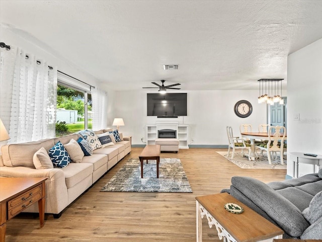
<path fill-rule="evenodd" d="M 8 144 L 1 147 L 4 165 L 7 167 L 29 167 L 35 169 L 34 154 L 44 147 L 47 151 L 55 145 L 54 139 Z"/>

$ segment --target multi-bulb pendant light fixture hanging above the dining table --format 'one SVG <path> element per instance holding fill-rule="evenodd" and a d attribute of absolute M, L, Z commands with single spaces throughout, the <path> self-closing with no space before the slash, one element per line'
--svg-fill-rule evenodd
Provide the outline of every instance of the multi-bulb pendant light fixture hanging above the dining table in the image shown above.
<path fill-rule="evenodd" d="M 267 103 L 274 105 L 274 103 L 284 104 L 282 99 L 282 80 L 284 79 L 259 79 L 260 82 L 260 96 L 258 97 L 258 103 Z M 264 94 L 265 83 L 265 94 Z M 279 84 L 281 84 L 281 91 L 279 93 Z M 267 95 L 268 86 L 268 95 Z M 261 95 L 262 94 L 262 95 Z"/>

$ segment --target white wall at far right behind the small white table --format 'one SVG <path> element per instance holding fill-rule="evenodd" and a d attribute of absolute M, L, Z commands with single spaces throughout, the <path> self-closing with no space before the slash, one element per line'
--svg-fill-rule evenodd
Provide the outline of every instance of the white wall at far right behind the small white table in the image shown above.
<path fill-rule="evenodd" d="M 287 151 L 322 155 L 322 39 L 290 54 L 287 63 Z M 291 159 L 288 155 L 289 176 Z M 312 172 L 311 165 L 299 164 L 299 176 Z"/>

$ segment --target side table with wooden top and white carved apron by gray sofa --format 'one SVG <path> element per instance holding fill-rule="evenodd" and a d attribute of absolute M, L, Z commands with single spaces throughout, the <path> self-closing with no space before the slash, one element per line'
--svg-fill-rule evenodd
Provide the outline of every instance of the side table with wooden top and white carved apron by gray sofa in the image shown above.
<path fill-rule="evenodd" d="M 228 212 L 224 205 L 235 203 L 244 208 L 241 214 Z M 228 242 L 272 241 L 282 238 L 284 231 L 261 215 L 239 202 L 228 193 L 196 197 L 197 242 L 202 242 L 202 218 L 209 227 L 215 225 L 219 239 Z"/>

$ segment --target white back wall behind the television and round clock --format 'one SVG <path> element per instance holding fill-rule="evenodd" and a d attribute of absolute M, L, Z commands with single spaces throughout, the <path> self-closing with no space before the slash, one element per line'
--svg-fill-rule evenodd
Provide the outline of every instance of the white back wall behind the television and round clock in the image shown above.
<path fill-rule="evenodd" d="M 227 145 L 226 126 L 232 126 L 234 135 L 239 135 L 239 125 L 248 123 L 254 131 L 266 123 L 266 105 L 258 104 L 258 91 L 181 91 L 188 93 L 188 116 L 156 118 L 146 116 L 146 92 L 116 92 L 117 109 L 115 117 L 123 118 L 125 126 L 120 127 L 124 135 L 132 136 L 132 144 L 143 144 L 144 126 L 159 120 L 177 121 L 189 124 L 189 144 Z M 233 107 L 239 100 L 248 100 L 253 113 L 248 118 L 239 118 Z M 194 141 L 192 141 L 194 140 Z"/>

